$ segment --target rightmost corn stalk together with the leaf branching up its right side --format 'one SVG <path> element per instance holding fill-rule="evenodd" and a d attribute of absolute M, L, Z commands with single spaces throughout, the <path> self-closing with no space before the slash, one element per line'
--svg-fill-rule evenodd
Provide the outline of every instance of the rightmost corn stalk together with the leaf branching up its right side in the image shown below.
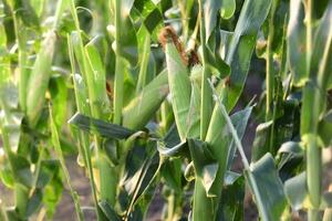
<path fill-rule="evenodd" d="M 303 88 L 301 110 L 301 139 L 307 155 L 307 185 L 312 209 L 309 220 L 319 220 L 322 186 L 322 156 L 319 141 L 318 125 L 320 115 L 325 108 L 324 93 L 331 78 L 332 52 L 332 2 L 329 1 L 325 14 L 313 39 L 313 1 L 309 0 L 305 8 L 307 15 L 307 72 L 309 81 Z M 315 40 L 315 41 L 314 41 Z M 325 42 L 321 42 L 325 41 Z M 324 44 L 324 46 L 322 46 Z M 313 51 L 314 50 L 314 51 Z"/>

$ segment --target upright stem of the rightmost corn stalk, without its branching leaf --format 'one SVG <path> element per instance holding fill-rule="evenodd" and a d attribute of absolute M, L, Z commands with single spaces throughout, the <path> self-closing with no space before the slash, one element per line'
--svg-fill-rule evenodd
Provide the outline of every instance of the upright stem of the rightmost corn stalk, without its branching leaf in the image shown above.
<path fill-rule="evenodd" d="M 310 76 L 303 90 L 303 104 L 301 110 L 301 139 L 307 150 L 307 185 L 309 198 L 313 209 L 309 210 L 309 220 L 318 220 L 317 209 L 321 201 L 321 149 L 318 145 L 317 133 L 321 101 L 318 91 L 317 78 L 311 76 L 311 53 L 312 53 L 312 0 L 307 1 L 305 24 L 307 24 L 307 72 Z"/>

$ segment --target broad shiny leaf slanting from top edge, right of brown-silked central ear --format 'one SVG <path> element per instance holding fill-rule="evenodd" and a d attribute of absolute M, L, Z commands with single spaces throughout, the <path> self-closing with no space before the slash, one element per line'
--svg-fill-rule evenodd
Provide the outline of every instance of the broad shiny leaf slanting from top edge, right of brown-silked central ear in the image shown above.
<path fill-rule="evenodd" d="M 269 13 L 271 2 L 271 0 L 246 0 L 243 3 L 226 55 L 226 63 L 231 70 L 230 86 L 221 93 L 227 109 L 235 106 L 242 92 L 256 46 L 257 33 Z"/>

